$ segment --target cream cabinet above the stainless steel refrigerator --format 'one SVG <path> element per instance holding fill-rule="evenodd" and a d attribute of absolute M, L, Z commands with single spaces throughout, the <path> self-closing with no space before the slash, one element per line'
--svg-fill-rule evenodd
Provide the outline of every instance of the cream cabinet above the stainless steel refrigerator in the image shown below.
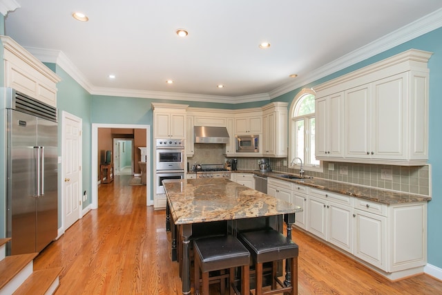
<path fill-rule="evenodd" d="M 3 45 L 4 85 L 57 107 L 57 83 L 60 78 L 41 61 L 8 36 L 0 36 Z"/>

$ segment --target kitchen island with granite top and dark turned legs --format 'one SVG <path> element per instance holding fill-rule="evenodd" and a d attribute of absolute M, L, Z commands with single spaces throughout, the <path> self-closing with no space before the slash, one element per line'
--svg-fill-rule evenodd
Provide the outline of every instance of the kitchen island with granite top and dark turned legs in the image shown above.
<path fill-rule="evenodd" d="M 193 224 L 228 220 L 231 234 L 235 234 L 236 221 L 265 217 L 282 220 L 283 217 L 287 237 L 291 238 L 295 213 L 302 211 L 294 204 L 224 178 L 164 180 L 163 185 L 167 196 L 166 227 L 172 232 L 172 258 L 177 257 L 177 231 L 182 240 L 182 294 L 191 292 L 189 238 Z"/>

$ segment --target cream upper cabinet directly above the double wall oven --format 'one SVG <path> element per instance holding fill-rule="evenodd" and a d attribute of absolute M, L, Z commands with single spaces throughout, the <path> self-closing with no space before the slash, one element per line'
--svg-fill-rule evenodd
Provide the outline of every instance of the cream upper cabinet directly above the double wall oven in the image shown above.
<path fill-rule="evenodd" d="M 152 108 L 154 138 L 186 138 L 187 105 L 152 103 Z"/>

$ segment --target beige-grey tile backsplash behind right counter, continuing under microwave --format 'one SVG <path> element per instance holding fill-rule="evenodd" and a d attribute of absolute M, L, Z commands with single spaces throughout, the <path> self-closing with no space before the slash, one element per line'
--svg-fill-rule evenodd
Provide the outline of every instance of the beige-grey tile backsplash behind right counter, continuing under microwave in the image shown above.
<path fill-rule="evenodd" d="M 259 169 L 260 158 L 237 158 L 238 169 Z M 299 173 L 299 169 L 284 166 L 287 158 L 270 158 L 273 171 Z M 330 170 L 332 169 L 333 170 Z M 340 182 L 377 187 L 404 193 L 430 196 L 430 166 L 393 166 L 376 164 L 356 164 L 344 162 L 323 162 L 324 172 L 306 171 L 305 175 Z"/>

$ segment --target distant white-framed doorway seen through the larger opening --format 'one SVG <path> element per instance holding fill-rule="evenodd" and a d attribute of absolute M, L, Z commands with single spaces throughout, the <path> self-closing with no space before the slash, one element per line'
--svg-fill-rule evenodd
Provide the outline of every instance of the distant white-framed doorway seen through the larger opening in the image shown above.
<path fill-rule="evenodd" d="M 133 140 L 113 139 L 113 171 L 115 175 L 133 175 Z"/>

